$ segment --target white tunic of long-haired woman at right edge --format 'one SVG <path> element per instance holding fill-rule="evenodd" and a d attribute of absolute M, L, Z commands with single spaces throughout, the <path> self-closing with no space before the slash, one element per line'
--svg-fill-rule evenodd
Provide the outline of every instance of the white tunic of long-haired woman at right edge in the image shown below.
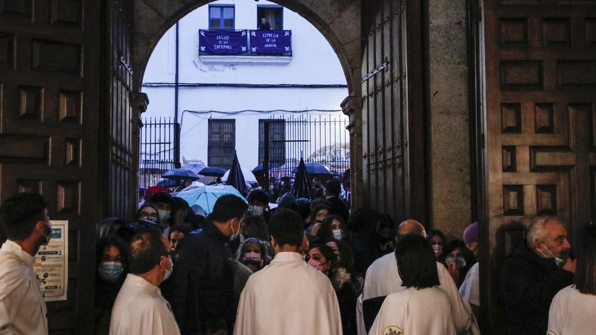
<path fill-rule="evenodd" d="M 572 286 L 558 291 L 548 312 L 549 335 L 594 334 L 596 296 L 583 294 Z"/>

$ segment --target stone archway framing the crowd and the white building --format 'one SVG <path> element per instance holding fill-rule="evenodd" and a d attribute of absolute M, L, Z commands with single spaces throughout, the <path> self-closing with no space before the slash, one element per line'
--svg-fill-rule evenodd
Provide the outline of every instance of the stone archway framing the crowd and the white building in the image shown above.
<path fill-rule="evenodd" d="M 258 0 L 256 0 L 258 1 Z M 358 0 L 270 0 L 295 11 L 327 39 L 342 64 L 349 97 L 341 104 L 350 117 L 350 161 L 352 162 L 352 205 L 359 207 L 362 187 L 361 139 L 361 2 Z M 151 52 L 178 20 L 210 0 L 135 0 L 132 70 L 134 92 L 141 91 L 142 78 Z M 146 106 L 145 106 L 146 107 Z M 143 108 L 138 108 L 144 111 Z"/>

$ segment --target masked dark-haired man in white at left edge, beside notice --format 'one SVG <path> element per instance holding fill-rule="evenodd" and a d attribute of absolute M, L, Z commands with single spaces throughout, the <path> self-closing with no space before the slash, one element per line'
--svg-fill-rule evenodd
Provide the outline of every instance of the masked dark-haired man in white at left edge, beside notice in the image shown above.
<path fill-rule="evenodd" d="M 0 249 L 0 334 L 48 334 L 35 254 L 52 234 L 47 203 L 39 194 L 21 193 L 0 207 L 8 240 Z"/>

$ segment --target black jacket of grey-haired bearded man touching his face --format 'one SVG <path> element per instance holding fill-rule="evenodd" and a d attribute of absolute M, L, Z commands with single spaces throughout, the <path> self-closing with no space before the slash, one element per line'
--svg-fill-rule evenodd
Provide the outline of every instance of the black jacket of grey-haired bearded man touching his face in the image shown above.
<path fill-rule="evenodd" d="M 507 333 L 546 334 L 552 298 L 572 281 L 572 272 L 557 268 L 554 259 L 539 257 L 521 243 L 501 272 Z"/>

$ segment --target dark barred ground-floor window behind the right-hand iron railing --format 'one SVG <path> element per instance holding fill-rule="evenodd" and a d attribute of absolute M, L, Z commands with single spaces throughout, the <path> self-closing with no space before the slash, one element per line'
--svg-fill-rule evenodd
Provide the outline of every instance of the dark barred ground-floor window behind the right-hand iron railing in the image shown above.
<path fill-rule="evenodd" d="M 259 120 L 259 164 L 265 159 L 265 122 L 269 122 L 269 168 L 285 163 L 285 120 Z"/>

